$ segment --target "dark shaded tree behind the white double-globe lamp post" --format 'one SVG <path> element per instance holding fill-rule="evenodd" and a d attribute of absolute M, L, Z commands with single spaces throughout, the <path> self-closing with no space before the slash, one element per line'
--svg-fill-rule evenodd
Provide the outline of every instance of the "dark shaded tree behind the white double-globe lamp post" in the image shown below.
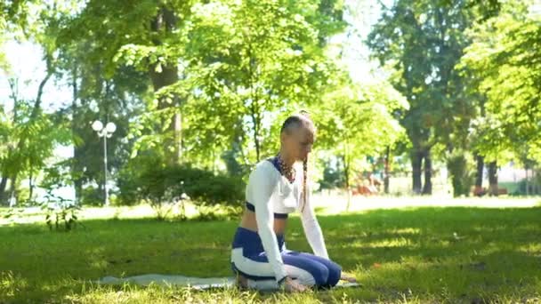
<path fill-rule="evenodd" d="M 148 95 L 146 75 L 130 67 L 117 68 L 107 78 L 103 61 L 88 62 L 85 50 L 91 42 L 76 42 L 61 46 L 61 67 L 58 79 L 69 84 L 72 100 L 61 109 L 61 115 L 70 121 L 73 138 L 73 158 L 69 165 L 76 200 L 82 204 L 101 203 L 105 184 L 103 175 L 103 145 L 91 128 L 95 120 L 117 125 L 114 136 L 108 139 L 108 171 L 111 176 L 126 163 L 133 140 L 126 140 L 130 119 L 141 114 L 142 99 Z M 95 182 L 98 188 L 89 188 Z M 86 190 L 84 191 L 84 189 Z"/>

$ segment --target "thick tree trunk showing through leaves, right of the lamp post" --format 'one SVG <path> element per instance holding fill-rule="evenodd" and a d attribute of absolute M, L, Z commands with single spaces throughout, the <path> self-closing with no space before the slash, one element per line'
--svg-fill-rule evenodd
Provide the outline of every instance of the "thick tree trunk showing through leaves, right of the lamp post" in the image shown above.
<path fill-rule="evenodd" d="M 174 12 L 166 7 L 160 8 L 160 10 L 157 12 L 157 16 L 154 20 L 150 22 L 150 28 L 153 32 L 155 32 L 156 36 L 161 36 L 160 32 L 166 32 L 170 33 L 176 28 L 177 24 L 177 18 L 174 15 Z M 156 45 L 160 45 L 163 42 L 159 38 L 153 39 L 153 43 Z M 159 68 L 157 68 L 157 65 L 160 65 Z M 171 85 L 176 83 L 179 80 L 178 75 L 178 68 L 175 62 L 168 62 L 165 65 L 160 63 L 154 63 L 149 66 L 149 75 L 150 79 L 152 81 L 152 86 L 154 88 L 154 92 L 157 92 L 159 89 L 166 87 L 167 85 Z M 160 99 L 158 100 L 158 108 L 164 109 L 164 108 L 170 108 L 170 107 L 176 107 L 178 106 L 178 97 L 175 96 L 174 103 L 169 104 L 166 99 Z M 170 162 L 170 164 L 177 164 L 180 162 L 180 159 L 178 158 L 181 156 L 181 127 L 182 124 L 179 124 L 181 121 L 181 116 L 179 113 L 176 113 L 174 117 L 169 122 L 162 122 L 163 124 L 168 124 L 168 132 L 171 132 L 173 134 L 173 138 L 165 143 L 165 147 L 173 146 L 174 151 L 171 153 L 168 149 L 165 150 L 166 153 L 166 160 Z"/>

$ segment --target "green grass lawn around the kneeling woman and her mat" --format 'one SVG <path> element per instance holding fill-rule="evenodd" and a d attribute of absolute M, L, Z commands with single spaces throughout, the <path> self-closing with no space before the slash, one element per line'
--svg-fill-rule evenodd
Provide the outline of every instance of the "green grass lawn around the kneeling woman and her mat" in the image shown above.
<path fill-rule="evenodd" d="M 320 216 L 330 256 L 362 288 L 260 294 L 98 286 L 102 276 L 230 276 L 235 221 L 84 220 L 0 226 L 0 302 L 536 302 L 541 208 L 423 207 Z M 308 251 L 298 218 L 287 246 Z"/>

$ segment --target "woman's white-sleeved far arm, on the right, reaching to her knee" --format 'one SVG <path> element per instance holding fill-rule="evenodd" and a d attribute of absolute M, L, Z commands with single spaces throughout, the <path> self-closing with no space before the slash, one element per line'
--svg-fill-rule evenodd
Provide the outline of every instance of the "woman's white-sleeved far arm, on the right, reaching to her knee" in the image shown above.
<path fill-rule="evenodd" d="M 301 196 L 301 220 L 303 222 L 304 235 L 308 240 L 308 243 L 311 246 L 311 250 L 315 255 L 325 258 L 328 260 L 327 248 L 325 246 L 325 240 L 323 239 L 323 233 L 319 227 L 319 222 L 316 219 L 316 214 L 311 206 L 311 190 L 308 185 L 306 185 L 306 202 L 303 206 L 303 201 Z"/>

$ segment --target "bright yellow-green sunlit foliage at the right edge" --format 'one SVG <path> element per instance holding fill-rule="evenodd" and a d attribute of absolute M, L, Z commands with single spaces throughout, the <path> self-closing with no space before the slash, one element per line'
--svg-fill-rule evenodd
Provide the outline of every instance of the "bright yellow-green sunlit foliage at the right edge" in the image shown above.
<path fill-rule="evenodd" d="M 477 137 L 480 153 L 491 160 L 520 157 L 524 149 L 541 160 L 541 64 L 539 16 L 530 15 L 528 3 L 512 1 L 502 12 L 469 31 L 473 44 L 459 68 L 468 68 L 477 80 L 474 88 L 486 95 L 487 118 Z"/>

